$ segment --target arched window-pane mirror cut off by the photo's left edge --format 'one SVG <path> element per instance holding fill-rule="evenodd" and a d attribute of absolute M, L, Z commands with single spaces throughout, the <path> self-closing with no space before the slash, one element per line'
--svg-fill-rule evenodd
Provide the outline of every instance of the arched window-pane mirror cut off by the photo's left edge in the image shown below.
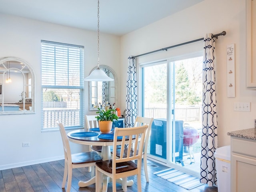
<path fill-rule="evenodd" d="M 0 114 L 34 112 L 34 72 L 16 57 L 0 59 Z"/>

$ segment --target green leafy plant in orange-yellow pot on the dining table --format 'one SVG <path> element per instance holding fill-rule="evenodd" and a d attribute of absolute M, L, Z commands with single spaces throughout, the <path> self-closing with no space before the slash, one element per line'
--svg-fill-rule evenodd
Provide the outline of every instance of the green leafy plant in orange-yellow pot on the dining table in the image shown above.
<path fill-rule="evenodd" d="M 100 109 L 98 108 L 99 115 L 96 116 L 96 119 L 99 122 L 99 128 L 102 133 L 109 133 L 112 129 L 113 120 L 118 120 L 118 116 L 114 109 Z"/>

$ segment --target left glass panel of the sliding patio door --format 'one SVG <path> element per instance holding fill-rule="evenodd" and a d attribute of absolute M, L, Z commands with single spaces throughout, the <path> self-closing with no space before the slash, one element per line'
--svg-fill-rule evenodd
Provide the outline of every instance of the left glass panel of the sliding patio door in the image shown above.
<path fill-rule="evenodd" d="M 148 142 L 148 154 L 154 159 L 167 160 L 168 80 L 167 61 L 150 63 L 142 68 L 142 116 L 154 118 Z"/>

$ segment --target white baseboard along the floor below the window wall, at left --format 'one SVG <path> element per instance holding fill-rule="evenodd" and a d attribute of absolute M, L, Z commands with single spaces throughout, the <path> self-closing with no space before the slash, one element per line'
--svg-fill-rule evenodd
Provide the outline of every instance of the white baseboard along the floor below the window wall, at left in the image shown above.
<path fill-rule="evenodd" d="M 35 164 L 57 161 L 57 160 L 62 160 L 62 159 L 64 159 L 64 156 L 56 156 L 56 157 L 51 157 L 51 158 L 37 159 L 37 160 L 32 160 L 32 161 L 24 161 L 24 162 L 18 162 L 18 163 L 13 163 L 13 164 L 5 164 L 5 165 L 0 166 L 0 170 L 35 165 Z"/>

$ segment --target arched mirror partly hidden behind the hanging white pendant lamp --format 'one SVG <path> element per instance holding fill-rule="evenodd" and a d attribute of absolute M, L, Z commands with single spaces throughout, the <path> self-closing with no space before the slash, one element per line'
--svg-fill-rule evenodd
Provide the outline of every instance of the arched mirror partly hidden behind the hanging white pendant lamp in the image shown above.
<path fill-rule="evenodd" d="M 94 68 L 96 69 L 96 68 Z M 93 69 L 93 70 L 94 70 Z M 110 78 L 114 79 L 114 81 L 108 82 L 99 82 L 99 81 L 92 81 L 89 82 L 89 110 L 98 110 L 98 107 L 104 107 L 106 105 L 113 105 L 117 104 L 116 98 L 116 90 L 117 90 L 117 83 L 116 83 L 116 75 L 114 71 L 108 67 L 101 65 L 100 69 L 102 69 Z M 93 71 L 92 70 L 92 71 Z"/>

